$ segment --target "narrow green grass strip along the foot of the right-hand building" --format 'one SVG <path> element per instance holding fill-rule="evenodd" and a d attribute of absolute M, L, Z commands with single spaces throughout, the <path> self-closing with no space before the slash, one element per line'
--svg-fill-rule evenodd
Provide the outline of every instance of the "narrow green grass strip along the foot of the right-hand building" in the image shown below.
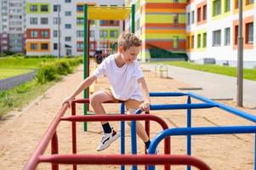
<path fill-rule="evenodd" d="M 220 75 L 236 77 L 236 67 L 222 66 L 222 65 L 198 65 L 185 61 L 157 61 L 152 64 L 174 65 L 184 67 L 196 71 L 212 72 Z M 243 69 L 243 78 L 247 80 L 256 81 L 256 69 Z"/>

